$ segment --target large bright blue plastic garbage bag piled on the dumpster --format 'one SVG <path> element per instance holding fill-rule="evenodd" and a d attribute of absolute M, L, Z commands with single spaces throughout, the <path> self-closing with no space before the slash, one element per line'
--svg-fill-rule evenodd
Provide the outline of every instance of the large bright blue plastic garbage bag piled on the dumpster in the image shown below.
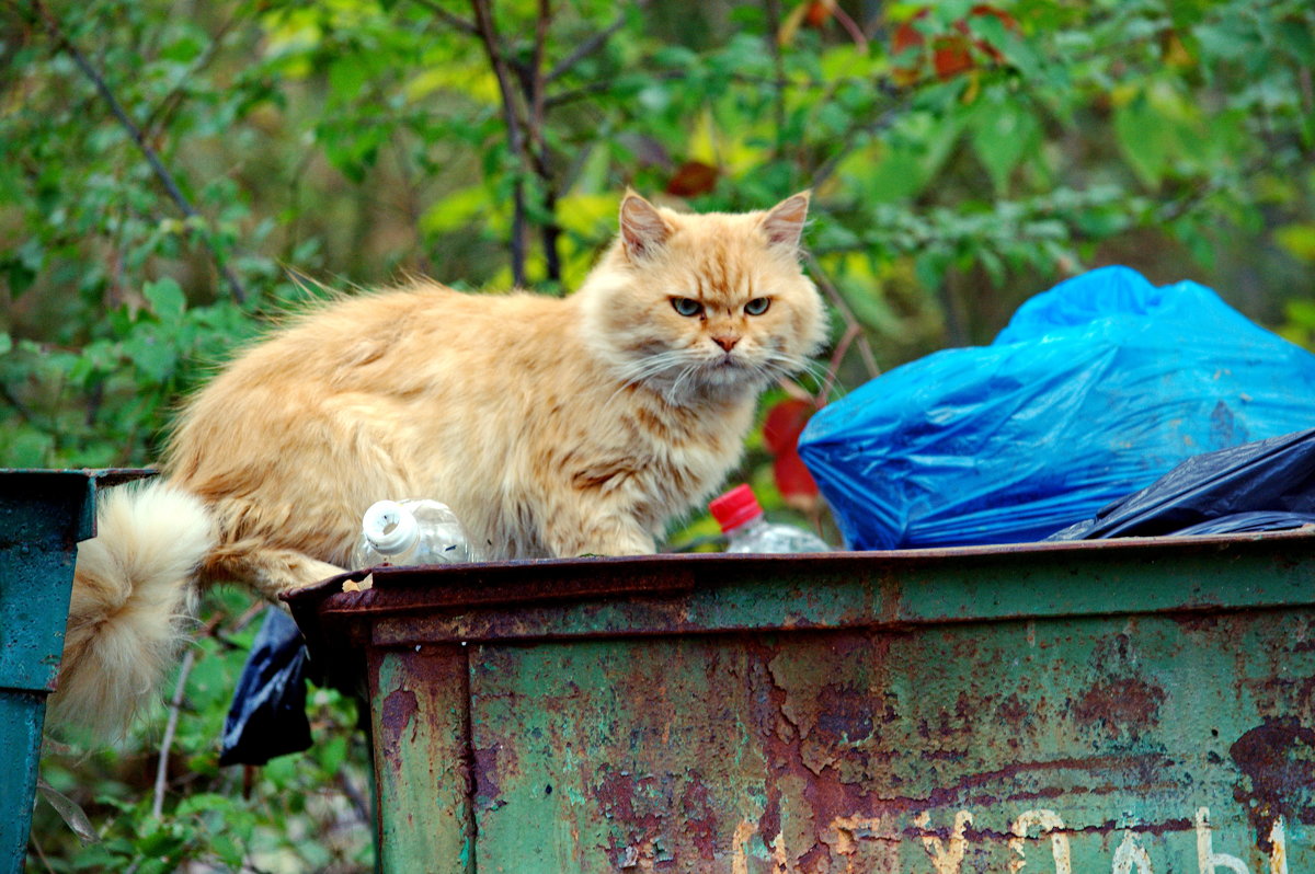
<path fill-rule="evenodd" d="M 1315 426 L 1315 355 L 1191 281 L 1126 267 L 1027 301 L 986 347 L 899 367 L 800 455 L 851 548 L 1022 543 L 1180 461 Z"/>

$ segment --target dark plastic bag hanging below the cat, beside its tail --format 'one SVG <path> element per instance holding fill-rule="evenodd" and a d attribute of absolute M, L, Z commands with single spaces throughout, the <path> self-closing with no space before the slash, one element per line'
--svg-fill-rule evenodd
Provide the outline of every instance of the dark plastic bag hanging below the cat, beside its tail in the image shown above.
<path fill-rule="evenodd" d="M 221 765 L 263 765 L 310 748 L 306 658 L 297 623 L 276 607 L 266 610 L 224 720 Z"/>

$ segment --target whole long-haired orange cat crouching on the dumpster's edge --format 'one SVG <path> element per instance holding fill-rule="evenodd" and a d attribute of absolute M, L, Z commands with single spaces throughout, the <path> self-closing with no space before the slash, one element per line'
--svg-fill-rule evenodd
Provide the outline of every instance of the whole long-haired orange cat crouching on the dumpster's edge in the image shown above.
<path fill-rule="evenodd" d="M 487 557 L 652 552 L 825 336 L 806 214 L 806 195 L 704 216 L 629 195 L 572 296 L 417 283 L 247 350 L 184 409 L 162 481 L 112 498 L 82 547 L 55 719 L 122 725 L 197 584 L 276 598 L 333 576 L 379 498 L 448 503 Z"/>

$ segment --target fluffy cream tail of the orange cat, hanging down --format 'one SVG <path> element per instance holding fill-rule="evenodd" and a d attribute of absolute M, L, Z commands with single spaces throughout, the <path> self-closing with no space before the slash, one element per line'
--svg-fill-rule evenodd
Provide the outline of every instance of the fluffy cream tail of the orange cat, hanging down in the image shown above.
<path fill-rule="evenodd" d="M 54 723 L 122 732 L 185 639 L 196 568 L 214 523 L 167 482 L 101 493 L 96 536 L 78 547 Z"/>

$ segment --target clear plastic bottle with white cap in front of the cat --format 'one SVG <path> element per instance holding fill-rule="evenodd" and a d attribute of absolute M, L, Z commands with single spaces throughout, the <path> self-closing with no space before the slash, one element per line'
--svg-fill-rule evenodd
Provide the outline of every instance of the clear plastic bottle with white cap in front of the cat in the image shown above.
<path fill-rule="evenodd" d="M 446 503 L 427 498 L 377 501 L 360 520 L 356 568 L 473 561 L 471 540 Z"/>

